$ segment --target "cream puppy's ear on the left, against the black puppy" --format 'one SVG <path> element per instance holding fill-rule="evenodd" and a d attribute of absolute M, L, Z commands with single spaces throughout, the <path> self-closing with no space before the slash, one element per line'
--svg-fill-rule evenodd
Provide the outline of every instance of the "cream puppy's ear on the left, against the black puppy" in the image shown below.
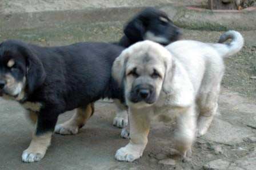
<path fill-rule="evenodd" d="M 129 57 L 128 51 L 123 50 L 122 53 L 115 59 L 112 67 L 112 76 L 117 81 L 118 86 L 121 86 L 123 78 L 125 77 L 125 68 L 127 59 Z"/>

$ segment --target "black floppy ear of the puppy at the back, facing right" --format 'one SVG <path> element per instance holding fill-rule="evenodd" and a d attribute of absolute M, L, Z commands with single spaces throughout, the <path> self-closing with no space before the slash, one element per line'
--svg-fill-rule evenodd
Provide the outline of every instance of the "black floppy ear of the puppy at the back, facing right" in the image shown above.
<path fill-rule="evenodd" d="M 143 36 L 146 32 L 146 29 L 141 19 L 136 18 L 127 24 L 123 32 L 132 43 L 135 43 L 143 41 Z"/>

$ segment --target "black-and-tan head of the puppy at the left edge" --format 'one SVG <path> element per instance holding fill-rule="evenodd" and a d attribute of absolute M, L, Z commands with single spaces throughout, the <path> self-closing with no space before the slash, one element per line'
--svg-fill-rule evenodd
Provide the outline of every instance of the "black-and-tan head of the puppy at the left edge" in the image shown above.
<path fill-rule="evenodd" d="M 44 78 L 42 64 L 25 43 L 9 40 L 0 44 L 0 96 L 22 100 Z"/>

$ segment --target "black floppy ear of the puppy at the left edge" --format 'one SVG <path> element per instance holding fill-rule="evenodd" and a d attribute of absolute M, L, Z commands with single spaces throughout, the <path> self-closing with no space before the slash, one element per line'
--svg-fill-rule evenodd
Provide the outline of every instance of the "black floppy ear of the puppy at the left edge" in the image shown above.
<path fill-rule="evenodd" d="M 31 94 L 45 82 L 46 73 L 37 55 L 33 54 L 29 49 L 26 49 L 25 56 L 27 63 L 27 92 Z"/>

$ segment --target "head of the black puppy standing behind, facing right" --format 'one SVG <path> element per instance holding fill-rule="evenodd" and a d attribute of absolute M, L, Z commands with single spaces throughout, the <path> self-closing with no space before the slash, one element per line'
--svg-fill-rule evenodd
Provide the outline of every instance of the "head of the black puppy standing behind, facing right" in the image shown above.
<path fill-rule="evenodd" d="M 181 32 L 166 13 L 149 7 L 136 15 L 125 27 L 124 33 L 132 42 L 150 40 L 167 45 L 177 41 Z"/>

